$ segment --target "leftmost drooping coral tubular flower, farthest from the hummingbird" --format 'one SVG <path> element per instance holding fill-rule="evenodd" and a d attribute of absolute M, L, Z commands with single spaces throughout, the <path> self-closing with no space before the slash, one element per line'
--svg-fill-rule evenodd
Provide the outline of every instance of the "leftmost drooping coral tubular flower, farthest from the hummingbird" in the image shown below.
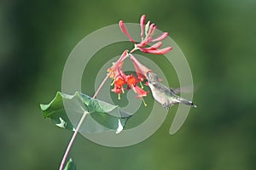
<path fill-rule="evenodd" d="M 110 68 L 108 68 L 110 78 L 113 78 L 118 74 L 118 70 L 123 67 L 124 61 L 128 56 L 128 50 L 125 49 L 124 53 L 120 56 L 120 58 L 115 63 L 113 63 Z"/>

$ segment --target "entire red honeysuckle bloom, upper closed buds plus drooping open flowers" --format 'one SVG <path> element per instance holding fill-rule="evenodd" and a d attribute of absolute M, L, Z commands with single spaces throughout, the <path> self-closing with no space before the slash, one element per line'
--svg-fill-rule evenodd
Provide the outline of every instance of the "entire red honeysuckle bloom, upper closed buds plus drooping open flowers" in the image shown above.
<path fill-rule="evenodd" d="M 166 54 L 172 50 L 172 47 L 167 47 L 167 48 L 161 48 L 162 41 L 168 36 L 167 32 L 164 32 L 160 37 L 153 38 L 154 31 L 157 29 L 157 27 L 148 21 L 148 23 L 145 25 L 145 19 L 146 16 L 143 14 L 140 20 L 140 26 L 141 26 L 141 37 L 142 41 L 139 43 L 136 43 L 129 32 L 126 29 L 125 23 L 120 20 L 119 21 L 119 27 L 123 33 L 130 39 L 132 43 L 135 44 L 135 48 L 131 50 L 129 53 L 128 50 L 126 49 L 124 53 L 120 56 L 120 58 L 113 63 L 113 65 L 108 69 L 108 77 L 113 78 L 113 83 L 114 88 L 112 91 L 116 94 L 120 95 L 123 93 L 125 94 L 125 89 L 130 90 L 132 89 L 136 94 L 138 99 L 143 99 L 143 97 L 148 95 L 148 92 L 143 90 L 143 81 L 147 79 L 147 73 L 151 70 L 149 70 L 145 65 L 141 64 L 132 53 L 135 50 L 140 50 L 143 53 L 150 53 L 150 54 Z M 155 42 L 153 45 L 150 47 L 148 46 L 148 43 L 150 42 Z M 122 67 L 124 64 L 124 61 L 126 58 L 130 58 L 132 61 L 132 64 L 135 67 L 135 70 L 137 72 L 137 77 L 134 76 L 133 74 L 131 75 L 125 75 L 125 72 L 122 71 Z M 138 86 L 138 83 L 141 84 L 141 88 Z M 148 82 L 146 82 L 147 84 Z M 143 100 L 144 105 L 145 102 Z"/>

